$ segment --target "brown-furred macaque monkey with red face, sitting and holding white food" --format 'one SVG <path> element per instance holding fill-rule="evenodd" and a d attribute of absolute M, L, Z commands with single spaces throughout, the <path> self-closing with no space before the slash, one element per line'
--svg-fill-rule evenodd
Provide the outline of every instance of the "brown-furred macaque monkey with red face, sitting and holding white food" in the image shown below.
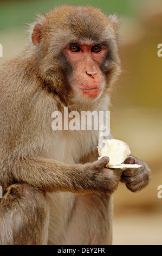
<path fill-rule="evenodd" d="M 37 17 L 30 47 L 0 71 L 0 244 L 111 245 L 112 194 L 150 180 L 139 169 L 107 169 L 98 131 L 51 129 L 51 114 L 108 111 L 120 74 L 118 20 L 63 5 Z"/>

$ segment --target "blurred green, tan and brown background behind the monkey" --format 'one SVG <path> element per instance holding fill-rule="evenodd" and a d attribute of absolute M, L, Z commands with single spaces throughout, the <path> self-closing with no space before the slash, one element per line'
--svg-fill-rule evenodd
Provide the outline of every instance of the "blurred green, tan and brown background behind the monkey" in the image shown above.
<path fill-rule="evenodd" d="M 138 193 L 120 184 L 114 193 L 114 245 L 162 245 L 162 44 L 161 0 L 0 1 L 0 64 L 24 49 L 27 23 L 60 4 L 92 4 L 120 18 L 122 75 L 112 99 L 111 130 L 152 170 Z M 162 53 L 162 52 L 161 52 Z M 162 193 L 161 193 L 162 194 Z"/>

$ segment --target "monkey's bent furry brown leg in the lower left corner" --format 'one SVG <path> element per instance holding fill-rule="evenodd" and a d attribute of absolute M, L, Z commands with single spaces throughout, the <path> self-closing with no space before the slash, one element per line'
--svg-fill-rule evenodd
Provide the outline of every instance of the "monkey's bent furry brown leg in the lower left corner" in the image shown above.
<path fill-rule="evenodd" d="M 43 191 L 11 185 L 0 199 L 0 245 L 46 245 L 48 219 Z"/>

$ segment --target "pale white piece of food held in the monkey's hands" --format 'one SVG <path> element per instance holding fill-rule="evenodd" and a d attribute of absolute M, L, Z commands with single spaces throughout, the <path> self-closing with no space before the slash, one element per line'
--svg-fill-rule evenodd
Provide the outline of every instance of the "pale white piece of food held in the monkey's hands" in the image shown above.
<path fill-rule="evenodd" d="M 99 136 L 100 138 L 100 136 Z M 139 168 L 139 164 L 122 164 L 127 156 L 131 154 L 131 150 L 126 142 L 119 139 L 102 139 L 104 147 L 98 147 L 99 158 L 103 156 L 109 157 L 108 168 Z"/>

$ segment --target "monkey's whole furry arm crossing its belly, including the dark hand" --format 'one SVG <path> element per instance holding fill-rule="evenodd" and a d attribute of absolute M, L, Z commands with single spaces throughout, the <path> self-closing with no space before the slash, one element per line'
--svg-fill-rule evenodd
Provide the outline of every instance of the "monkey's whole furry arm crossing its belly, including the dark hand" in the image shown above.
<path fill-rule="evenodd" d="M 2 186 L 21 182 L 47 192 L 112 193 L 121 173 L 107 170 L 108 160 L 103 157 L 92 163 L 69 165 L 42 157 L 20 158 L 10 162 L 9 166 L 1 165 L 0 180 Z"/>

